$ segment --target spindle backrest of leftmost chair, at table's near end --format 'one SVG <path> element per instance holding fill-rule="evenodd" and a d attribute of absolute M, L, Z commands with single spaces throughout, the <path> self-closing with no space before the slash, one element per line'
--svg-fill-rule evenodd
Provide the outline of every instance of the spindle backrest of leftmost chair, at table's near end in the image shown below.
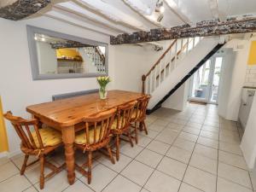
<path fill-rule="evenodd" d="M 18 136 L 20 137 L 22 147 L 28 148 L 28 149 L 38 149 L 36 143 L 35 143 L 35 137 L 32 137 L 32 130 L 36 132 L 36 137 L 38 139 L 39 143 L 39 149 L 44 148 L 42 138 L 40 136 L 40 133 L 38 131 L 38 120 L 37 119 L 31 119 L 26 120 L 21 117 L 16 117 L 11 113 L 10 111 L 3 114 L 3 117 L 5 119 L 9 119 L 9 121 L 12 123 L 12 125 L 15 127 L 15 131 L 17 132 Z"/>

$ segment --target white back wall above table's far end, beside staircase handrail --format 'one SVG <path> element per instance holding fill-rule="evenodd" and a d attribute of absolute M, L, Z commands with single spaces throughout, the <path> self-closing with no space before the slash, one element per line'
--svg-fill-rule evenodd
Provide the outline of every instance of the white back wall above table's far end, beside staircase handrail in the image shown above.
<path fill-rule="evenodd" d="M 115 46 L 115 88 L 120 90 L 142 91 L 142 76 L 160 58 L 172 41 L 163 41 L 161 51 L 152 46 Z"/>

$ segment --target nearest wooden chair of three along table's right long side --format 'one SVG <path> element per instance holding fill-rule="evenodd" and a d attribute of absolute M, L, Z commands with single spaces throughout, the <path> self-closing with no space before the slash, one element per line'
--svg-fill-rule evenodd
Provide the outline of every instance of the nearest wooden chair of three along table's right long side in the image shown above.
<path fill-rule="evenodd" d="M 87 177 L 88 183 L 91 182 L 91 166 L 92 166 L 92 152 L 101 148 L 107 148 L 110 160 L 114 164 L 113 154 L 109 146 L 111 140 L 110 129 L 113 124 L 116 108 L 108 111 L 98 113 L 94 116 L 84 118 L 85 129 L 79 131 L 75 137 L 75 147 L 88 152 L 88 161 L 84 165 L 75 165 L 76 169 Z M 88 167 L 88 171 L 84 167 Z"/>

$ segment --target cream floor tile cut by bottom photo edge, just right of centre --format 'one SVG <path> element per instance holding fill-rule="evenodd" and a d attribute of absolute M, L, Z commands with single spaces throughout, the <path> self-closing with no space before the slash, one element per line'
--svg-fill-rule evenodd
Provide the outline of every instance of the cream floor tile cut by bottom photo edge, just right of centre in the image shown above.
<path fill-rule="evenodd" d="M 155 171 L 144 188 L 150 192 L 177 192 L 180 181 L 162 172 Z"/>

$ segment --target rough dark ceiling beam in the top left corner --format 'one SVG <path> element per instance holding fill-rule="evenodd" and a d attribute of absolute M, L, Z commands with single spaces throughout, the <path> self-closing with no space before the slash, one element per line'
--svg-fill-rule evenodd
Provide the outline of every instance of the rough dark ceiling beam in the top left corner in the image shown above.
<path fill-rule="evenodd" d="M 45 8 L 51 0 L 1 0 L 0 17 L 22 20 Z"/>

